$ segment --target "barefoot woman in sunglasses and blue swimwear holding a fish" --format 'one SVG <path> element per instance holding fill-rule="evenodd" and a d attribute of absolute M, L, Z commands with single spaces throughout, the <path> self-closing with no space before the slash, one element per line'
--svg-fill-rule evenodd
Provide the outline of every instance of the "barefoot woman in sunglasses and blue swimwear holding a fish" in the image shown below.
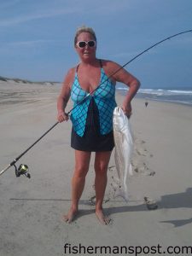
<path fill-rule="evenodd" d="M 140 83 L 125 69 L 120 69 L 118 73 L 113 74 L 120 68 L 117 63 L 96 58 L 96 34 L 92 28 L 86 26 L 79 28 L 74 38 L 74 47 L 80 63 L 68 71 L 57 101 L 59 122 L 68 119 L 65 108 L 70 96 L 74 102 L 71 115 L 73 122 L 71 146 L 75 149 L 72 205 L 64 219 L 70 223 L 78 212 L 79 199 L 84 190 L 85 177 L 90 166 L 90 154 L 96 152 L 94 165 L 96 217 L 102 224 L 108 224 L 109 219 L 102 211 L 102 201 L 107 185 L 108 162 L 114 146 L 115 83 L 118 81 L 129 86 L 121 106 L 128 117 L 131 115 L 131 100 L 136 95 Z M 110 76 L 111 74 L 113 75 Z M 94 92 L 88 96 L 93 90 Z"/>

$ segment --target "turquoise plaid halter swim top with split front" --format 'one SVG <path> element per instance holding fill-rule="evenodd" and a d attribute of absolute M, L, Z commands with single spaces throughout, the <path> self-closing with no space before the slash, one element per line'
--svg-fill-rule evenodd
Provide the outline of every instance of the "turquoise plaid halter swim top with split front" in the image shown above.
<path fill-rule="evenodd" d="M 100 61 L 101 65 L 102 62 Z M 101 79 L 98 89 L 88 96 L 89 93 L 83 90 L 79 84 L 78 67 L 76 69 L 75 78 L 72 85 L 71 99 L 73 101 L 73 111 L 71 120 L 73 122 L 73 129 L 80 136 L 84 136 L 85 124 L 87 119 L 87 112 L 90 100 L 93 97 L 99 112 L 100 133 L 102 135 L 108 134 L 113 130 L 113 109 L 117 106 L 115 102 L 115 86 L 104 72 L 101 66 Z M 84 97 L 86 99 L 83 101 Z M 83 101 L 83 102 L 82 102 Z M 79 104 L 79 102 L 81 102 Z M 79 104 L 77 106 L 77 104 Z M 76 107 L 77 106 L 77 107 Z"/>

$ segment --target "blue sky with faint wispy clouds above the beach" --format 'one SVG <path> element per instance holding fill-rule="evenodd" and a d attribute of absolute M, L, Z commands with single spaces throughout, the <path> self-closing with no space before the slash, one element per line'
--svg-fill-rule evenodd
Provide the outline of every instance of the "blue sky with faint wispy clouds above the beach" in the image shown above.
<path fill-rule="evenodd" d="M 97 58 L 125 65 L 192 29 L 192 0 L 0 0 L 0 76 L 61 82 L 79 62 L 79 26 L 96 32 Z M 125 67 L 143 88 L 192 89 L 192 32 Z"/>

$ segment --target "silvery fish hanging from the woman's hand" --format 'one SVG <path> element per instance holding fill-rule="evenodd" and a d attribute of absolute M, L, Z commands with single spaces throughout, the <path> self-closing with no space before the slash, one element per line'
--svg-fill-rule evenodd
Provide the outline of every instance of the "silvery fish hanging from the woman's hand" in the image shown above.
<path fill-rule="evenodd" d="M 121 196 L 129 201 L 129 175 L 133 175 L 131 156 L 134 147 L 130 119 L 120 107 L 113 110 L 114 161 L 118 178 L 113 177 L 114 198 Z"/>

